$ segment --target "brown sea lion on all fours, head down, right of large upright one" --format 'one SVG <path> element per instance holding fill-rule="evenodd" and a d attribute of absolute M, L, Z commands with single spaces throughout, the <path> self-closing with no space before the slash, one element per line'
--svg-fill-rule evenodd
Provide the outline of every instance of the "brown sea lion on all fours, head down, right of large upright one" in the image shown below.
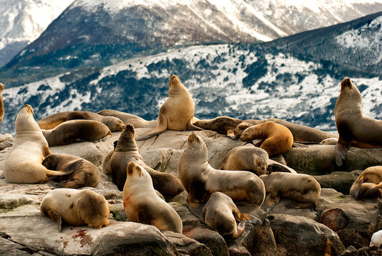
<path fill-rule="evenodd" d="M 321 193 L 321 186 L 307 174 L 289 174 L 275 172 L 260 176 L 264 181 L 267 197 L 265 206 L 269 209 L 275 206 L 280 197 L 297 201 L 290 208 L 315 208 Z"/>

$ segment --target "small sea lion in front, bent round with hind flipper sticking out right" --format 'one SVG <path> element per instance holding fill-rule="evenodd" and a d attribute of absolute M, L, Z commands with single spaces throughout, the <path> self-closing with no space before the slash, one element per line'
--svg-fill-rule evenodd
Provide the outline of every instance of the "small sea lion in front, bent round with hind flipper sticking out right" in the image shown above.
<path fill-rule="evenodd" d="M 261 224 L 261 220 L 247 213 L 240 213 L 232 199 L 221 192 L 215 192 L 203 207 L 200 220 L 216 230 L 223 238 L 238 238 L 243 233 L 245 222 Z M 236 220 L 240 221 L 237 225 Z"/>

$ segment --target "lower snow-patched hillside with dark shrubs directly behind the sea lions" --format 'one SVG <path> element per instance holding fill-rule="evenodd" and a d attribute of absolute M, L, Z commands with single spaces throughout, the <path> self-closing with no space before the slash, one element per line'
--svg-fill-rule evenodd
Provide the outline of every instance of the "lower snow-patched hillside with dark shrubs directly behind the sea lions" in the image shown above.
<path fill-rule="evenodd" d="M 342 48 L 355 51 L 360 46 L 368 53 L 382 46 L 382 41 L 376 40 L 381 31 L 375 29 L 382 26 L 381 15 L 344 23 L 326 33 L 319 29 L 292 37 L 300 46 L 314 46 L 314 39 L 321 42 L 327 38 L 326 50 L 333 56 Z M 343 38 L 349 35 L 356 40 L 344 45 Z M 341 58 L 336 61 L 300 55 L 290 47 L 297 48 L 298 43 L 293 44 L 292 38 L 282 40 L 279 48 L 274 42 L 189 46 L 7 88 L 3 93 L 6 116 L 0 132 L 14 130 L 16 114 L 26 103 L 33 106 L 36 119 L 65 110 L 103 109 L 156 119 L 166 100 L 171 74 L 178 75 L 189 89 L 196 117 L 201 119 L 220 115 L 241 119 L 278 117 L 335 130 L 334 105 L 339 84 L 346 76 L 359 87 L 365 113 L 382 119 L 381 75 L 357 71 L 364 66 L 360 59 L 349 68 L 339 65 Z M 365 41 L 373 42 L 371 48 L 356 43 Z"/>

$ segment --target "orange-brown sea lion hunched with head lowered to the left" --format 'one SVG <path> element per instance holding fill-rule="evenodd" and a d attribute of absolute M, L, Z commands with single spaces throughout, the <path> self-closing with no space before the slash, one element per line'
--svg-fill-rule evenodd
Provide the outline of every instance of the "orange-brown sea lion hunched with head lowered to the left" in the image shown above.
<path fill-rule="evenodd" d="M 240 140 L 243 142 L 253 139 L 262 139 L 260 149 L 267 151 L 270 156 L 283 154 L 293 145 L 292 132 L 284 125 L 275 122 L 265 122 L 248 127 L 240 136 Z"/>

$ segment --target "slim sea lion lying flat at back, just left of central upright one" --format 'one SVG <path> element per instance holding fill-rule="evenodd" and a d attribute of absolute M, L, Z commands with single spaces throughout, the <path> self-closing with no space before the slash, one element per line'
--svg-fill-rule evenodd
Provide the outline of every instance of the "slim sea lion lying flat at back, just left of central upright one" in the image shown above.
<path fill-rule="evenodd" d="M 104 117 L 117 117 L 124 124 L 132 124 L 135 128 L 155 128 L 157 124 L 154 120 L 147 121 L 141 117 L 136 116 L 135 114 L 129 114 L 117 110 L 101 110 L 97 114 L 100 114 Z"/>

